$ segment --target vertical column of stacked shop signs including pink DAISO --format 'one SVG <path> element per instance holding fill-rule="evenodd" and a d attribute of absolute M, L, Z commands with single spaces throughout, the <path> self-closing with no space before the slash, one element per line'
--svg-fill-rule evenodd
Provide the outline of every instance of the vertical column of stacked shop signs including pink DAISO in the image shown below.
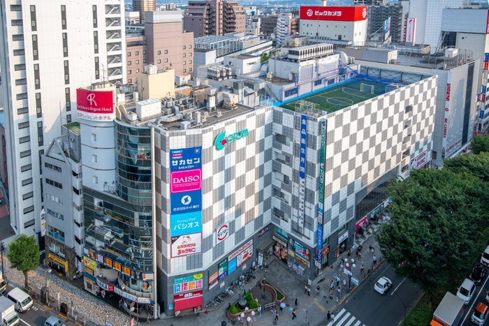
<path fill-rule="evenodd" d="M 170 150 L 171 258 L 202 252 L 202 147 Z"/>

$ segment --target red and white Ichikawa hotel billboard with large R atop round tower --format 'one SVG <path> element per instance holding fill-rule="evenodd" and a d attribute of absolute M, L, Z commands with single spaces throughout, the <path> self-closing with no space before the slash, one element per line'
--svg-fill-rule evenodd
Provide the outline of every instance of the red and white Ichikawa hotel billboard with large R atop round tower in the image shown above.
<path fill-rule="evenodd" d="M 114 119 L 114 91 L 76 89 L 77 116 L 82 119 L 112 121 Z"/>

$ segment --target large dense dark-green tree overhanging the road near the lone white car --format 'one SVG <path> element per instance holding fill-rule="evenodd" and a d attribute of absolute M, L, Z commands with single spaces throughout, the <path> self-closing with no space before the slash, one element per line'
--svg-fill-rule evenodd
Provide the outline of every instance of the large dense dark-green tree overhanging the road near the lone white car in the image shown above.
<path fill-rule="evenodd" d="M 430 301 L 439 290 L 453 290 L 479 250 L 486 212 L 467 194 L 478 182 L 472 175 L 429 169 L 413 170 L 408 179 L 387 187 L 392 219 L 377 235 L 381 252 Z"/>

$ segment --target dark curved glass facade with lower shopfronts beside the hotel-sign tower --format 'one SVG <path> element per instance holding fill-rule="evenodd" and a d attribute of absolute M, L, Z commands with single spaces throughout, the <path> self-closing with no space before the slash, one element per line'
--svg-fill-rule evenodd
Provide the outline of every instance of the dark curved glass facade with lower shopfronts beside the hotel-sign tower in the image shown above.
<path fill-rule="evenodd" d="M 124 292 L 154 303 L 151 130 L 117 123 L 114 130 L 115 182 L 84 188 L 85 250 L 119 272 Z"/>

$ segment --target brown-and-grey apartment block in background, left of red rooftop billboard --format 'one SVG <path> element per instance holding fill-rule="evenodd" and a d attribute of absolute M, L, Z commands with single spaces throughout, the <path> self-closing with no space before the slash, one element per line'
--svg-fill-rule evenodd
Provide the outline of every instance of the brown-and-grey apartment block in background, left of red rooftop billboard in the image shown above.
<path fill-rule="evenodd" d="M 246 16 L 237 1 L 189 1 L 185 9 L 184 30 L 194 37 L 245 32 Z"/>

